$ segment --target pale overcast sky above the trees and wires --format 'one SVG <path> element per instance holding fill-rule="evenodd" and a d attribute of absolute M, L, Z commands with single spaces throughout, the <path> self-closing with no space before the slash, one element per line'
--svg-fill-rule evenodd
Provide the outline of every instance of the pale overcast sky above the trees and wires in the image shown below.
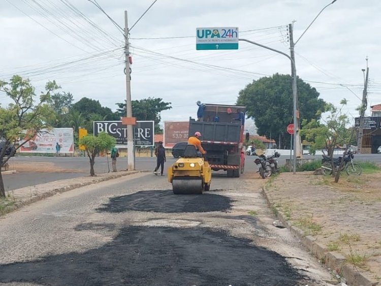
<path fill-rule="evenodd" d="M 132 99 L 162 98 L 172 109 L 165 120 L 196 117 L 196 101 L 234 104 L 252 80 L 290 74 L 290 60 L 239 43 L 238 50 L 196 50 L 197 27 L 238 27 L 239 38 L 289 53 L 288 29 L 296 41 L 332 0 L 157 0 L 131 29 Z M 124 27 L 153 0 L 98 0 Z M 381 103 L 381 2 L 337 0 L 296 45 L 297 74 L 327 102 L 348 100 L 351 117 L 361 103 L 368 56 L 369 106 Z M 28 77 L 37 91 L 56 80 L 75 101 L 99 100 L 115 110 L 125 99 L 122 31 L 88 0 L 0 0 L 0 79 Z M 4 93 L 0 102 L 6 103 Z"/>

